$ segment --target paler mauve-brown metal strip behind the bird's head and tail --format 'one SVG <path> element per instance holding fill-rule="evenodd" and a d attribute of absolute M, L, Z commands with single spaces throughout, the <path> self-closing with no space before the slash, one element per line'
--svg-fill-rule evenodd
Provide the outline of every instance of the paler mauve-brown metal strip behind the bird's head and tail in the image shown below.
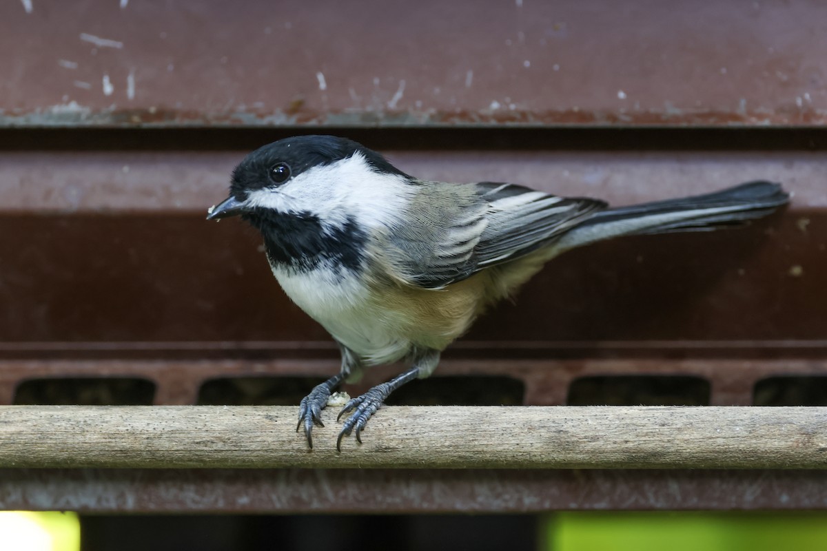
<path fill-rule="evenodd" d="M 351 135 L 342 130 L 333 133 Z M 236 135 L 220 141 L 221 149 L 194 150 L 185 138 L 175 141 L 177 147 L 173 148 L 167 144 L 174 140 L 160 140 L 151 131 L 127 134 L 122 139 L 140 136 L 141 147 L 119 145 L 113 137 L 88 150 L 83 131 L 71 134 L 77 140 L 74 147 L 59 150 L 42 150 L 38 140 L 32 140 L 26 150 L 2 149 L 0 142 L 0 215 L 161 211 L 204 216 L 209 205 L 226 196 L 232 168 L 248 153 L 237 150 L 232 140 Z M 614 149 L 623 149 L 614 151 L 561 150 L 566 145 L 565 134 L 539 136 L 531 150 L 500 145 L 493 132 L 487 150 L 463 147 L 465 140 L 473 139 L 468 135 L 457 135 L 454 141 L 458 143 L 437 150 L 422 149 L 416 134 L 408 136 L 404 140 L 407 147 L 393 150 L 385 145 L 382 135 L 368 134 L 362 141 L 385 154 L 399 169 L 444 182 L 519 183 L 559 195 L 600 197 L 623 205 L 769 179 L 784 183 L 793 192 L 792 211 L 827 208 L 827 157 L 805 148 L 781 149 L 790 139 L 788 135 L 773 135 L 774 140 L 763 142 L 758 151 L 739 150 L 737 143 L 735 149 L 705 150 L 707 135 L 697 136 L 685 150 L 673 150 L 674 146 L 657 137 L 655 146 L 640 150 L 643 145 L 621 134 Z M 262 135 L 261 140 L 251 141 L 249 150 L 276 137 L 280 136 Z M 116 150 L 112 150 L 113 140 Z M 155 140 L 160 145 L 155 145 Z M 776 140 L 777 149 L 767 150 Z M 227 231 L 223 225 L 206 226 Z"/>

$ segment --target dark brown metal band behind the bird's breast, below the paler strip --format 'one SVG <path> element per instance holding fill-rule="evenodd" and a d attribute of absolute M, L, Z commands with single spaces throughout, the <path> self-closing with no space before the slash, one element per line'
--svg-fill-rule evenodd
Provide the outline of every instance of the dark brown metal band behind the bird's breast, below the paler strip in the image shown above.
<path fill-rule="evenodd" d="M 466 339 L 825 340 L 827 263 L 811 244 L 827 226 L 824 216 L 806 218 L 808 233 L 787 217 L 574 251 Z M 327 340 L 280 291 L 241 224 L 2 216 L 0 233 L 27 237 L 0 240 L 7 342 Z"/>

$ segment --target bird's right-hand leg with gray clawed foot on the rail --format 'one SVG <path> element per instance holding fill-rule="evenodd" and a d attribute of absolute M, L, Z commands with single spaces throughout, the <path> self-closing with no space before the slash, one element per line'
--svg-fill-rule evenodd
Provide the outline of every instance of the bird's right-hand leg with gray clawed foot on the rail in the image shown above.
<path fill-rule="evenodd" d="M 408 371 L 390 379 L 388 382 L 376 385 L 368 392 L 348 401 L 336 419 L 339 420 L 344 414 L 351 411 L 353 411 L 353 414 L 347 418 L 342 426 L 342 431 L 336 440 L 336 449 L 342 451 L 342 439 L 345 436 L 350 436 L 353 430 L 356 430 L 356 441 L 361 444 L 361 431 L 365 428 L 367 420 L 379 409 L 382 402 L 390 396 L 390 393 L 415 378 L 428 377 L 433 369 L 437 367 L 437 363 L 439 363 L 439 352 L 428 350 L 418 356 L 414 361 L 414 367 Z"/>

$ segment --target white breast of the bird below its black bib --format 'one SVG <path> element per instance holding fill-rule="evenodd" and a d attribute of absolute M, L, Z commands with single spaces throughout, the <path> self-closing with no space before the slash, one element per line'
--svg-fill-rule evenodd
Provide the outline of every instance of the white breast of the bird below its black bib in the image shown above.
<path fill-rule="evenodd" d="M 287 296 L 367 365 L 395 362 L 411 348 L 410 340 L 394 330 L 391 312 L 370 306 L 369 290 L 347 271 L 329 264 L 309 272 L 270 268 Z"/>

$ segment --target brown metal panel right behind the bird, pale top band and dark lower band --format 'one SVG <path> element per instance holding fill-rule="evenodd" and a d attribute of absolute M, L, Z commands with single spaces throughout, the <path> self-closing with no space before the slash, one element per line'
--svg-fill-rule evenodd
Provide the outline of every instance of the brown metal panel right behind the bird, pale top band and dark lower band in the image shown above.
<path fill-rule="evenodd" d="M 327 342 L 273 282 L 249 228 L 203 221 L 206 206 L 226 194 L 239 156 L 0 153 L 0 349 L 263 342 L 269 344 L 258 348 L 296 352 Z M 528 283 L 515 304 L 482 318 L 457 349 L 528 347 L 548 357 L 580 341 L 582 349 L 623 355 L 622 349 L 649 346 L 630 343 L 731 341 L 743 351 L 745 342 L 827 339 L 821 283 L 827 278 L 827 166 L 821 156 L 523 151 L 392 157 L 428 178 L 502 178 L 615 203 L 749 178 L 778 179 L 795 194 L 786 213 L 746 229 L 635 237 L 566 254 Z"/>

